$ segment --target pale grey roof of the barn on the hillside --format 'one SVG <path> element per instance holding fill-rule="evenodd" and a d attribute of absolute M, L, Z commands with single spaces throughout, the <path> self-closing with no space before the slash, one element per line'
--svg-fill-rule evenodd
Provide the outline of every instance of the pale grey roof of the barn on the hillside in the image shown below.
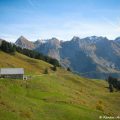
<path fill-rule="evenodd" d="M 11 74 L 24 74 L 23 68 L 0 68 L 1 75 L 11 75 Z"/>

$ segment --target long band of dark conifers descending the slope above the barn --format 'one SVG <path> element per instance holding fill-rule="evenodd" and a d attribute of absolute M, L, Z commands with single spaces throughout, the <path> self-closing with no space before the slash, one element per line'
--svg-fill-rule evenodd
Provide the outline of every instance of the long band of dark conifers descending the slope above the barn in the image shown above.
<path fill-rule="evenodd" d="M 24 54 L 24 55 L 28 56 L 28 57 L 43 60 L 43 61 L 48 62 L 48 63 L 50 63 L 54 66 L 57 66 L 57 67 L 60 66 L 58 60 L 56 60 L 54 58 L 45 56 L 45 55 L 43 55 L 39 52 L 36 52 L 34 50 L 21 48 L 19 46 L 16 46 L 15 44 L 12 44 L 12 43 L 9 43 L 9 42 L 6 42 L 6 41 L 2 41 L 2 43 L 0 45 L 0 50 L 4 51 L 6 53 L 9 53 L 9 54 L 15 54 L 15 52 L 17 51 L 21 54 Z"/>

